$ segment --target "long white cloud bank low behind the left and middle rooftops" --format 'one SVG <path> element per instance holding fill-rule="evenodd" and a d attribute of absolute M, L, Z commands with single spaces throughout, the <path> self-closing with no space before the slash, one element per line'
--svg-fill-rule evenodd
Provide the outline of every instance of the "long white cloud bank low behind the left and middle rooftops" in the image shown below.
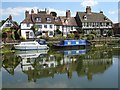
<path fill-rule="evenodd" d="M 39 9 L 38 7 L 15 7 L 15 8 L 5 8 L 5 9 L 0 9 L 0 13 L 2 13 L 2 15 L 12 15 L 12 16 L 20 16 L 21 14 L 23 14 L 26 10 L 28 10 L 29 12 L 31 11 L 31 9 L 33 9 L 35 11 L 35 13 L 37 12 L 37 9 Z M 45 10 L 45 9 L 40 9 L 40 10 Z M 58 16 L 63 16 L 66 14 L 65 10 L 59 10 L 59 9 L 54 9 L 54 8 L 47 8 L 47 10 L 51 11 L 55 11 L 57 13 Z M 75 16 L 75 12 L 71 12 L 72 16 Z"/>

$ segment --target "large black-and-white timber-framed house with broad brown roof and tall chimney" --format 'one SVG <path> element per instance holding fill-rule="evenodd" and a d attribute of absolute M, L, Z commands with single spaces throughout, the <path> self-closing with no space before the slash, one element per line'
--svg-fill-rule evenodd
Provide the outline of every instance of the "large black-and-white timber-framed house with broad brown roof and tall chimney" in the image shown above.
<path fill-rule="evenodd" d="M 86 7 L 86 12 L 77 12 L 76 21 L 85 34 L 96 31 L 98 35 L 103 35 L 107 34 L 108 30 L 112 30 L 112 21 L 102 11 L 92 12 L 89 6 Z"/>

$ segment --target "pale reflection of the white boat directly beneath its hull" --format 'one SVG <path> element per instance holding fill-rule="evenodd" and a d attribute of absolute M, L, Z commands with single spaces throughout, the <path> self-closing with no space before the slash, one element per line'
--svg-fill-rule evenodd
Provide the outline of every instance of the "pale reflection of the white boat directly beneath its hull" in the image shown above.
<path fill-rule="evenodd" d="M 39 55 L 47 54 L 48 50 L 16 51 L 21 58 L 37 58 Z"/>

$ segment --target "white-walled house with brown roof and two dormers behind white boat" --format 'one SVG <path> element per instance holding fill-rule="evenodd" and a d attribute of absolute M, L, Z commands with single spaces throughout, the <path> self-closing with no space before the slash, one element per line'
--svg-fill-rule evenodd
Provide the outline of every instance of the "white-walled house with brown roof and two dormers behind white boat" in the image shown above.
<path fill-rule="evenodd" d="M 54 35 L 54 18 L 47 10 L 37 10 L 37 13 L 31 10 L 31 14 L 29 11 L 25 12 L 25 19 L 21 22 L 21 36 L 28 39 L 34 38 L 36 35 L 48 37 Z"/>

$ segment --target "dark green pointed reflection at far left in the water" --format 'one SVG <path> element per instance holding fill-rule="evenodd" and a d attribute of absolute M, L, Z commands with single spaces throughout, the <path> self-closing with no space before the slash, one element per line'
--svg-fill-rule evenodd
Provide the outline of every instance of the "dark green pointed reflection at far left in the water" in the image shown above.
<path fill-rule="evenodd" d="M 8 73 L 14 75 L 14 69 L 20 62 L 20 57 L 15 56 L 13 53 L 6 53 L 3 55 L 2 67 L 5 68 Z"/>

